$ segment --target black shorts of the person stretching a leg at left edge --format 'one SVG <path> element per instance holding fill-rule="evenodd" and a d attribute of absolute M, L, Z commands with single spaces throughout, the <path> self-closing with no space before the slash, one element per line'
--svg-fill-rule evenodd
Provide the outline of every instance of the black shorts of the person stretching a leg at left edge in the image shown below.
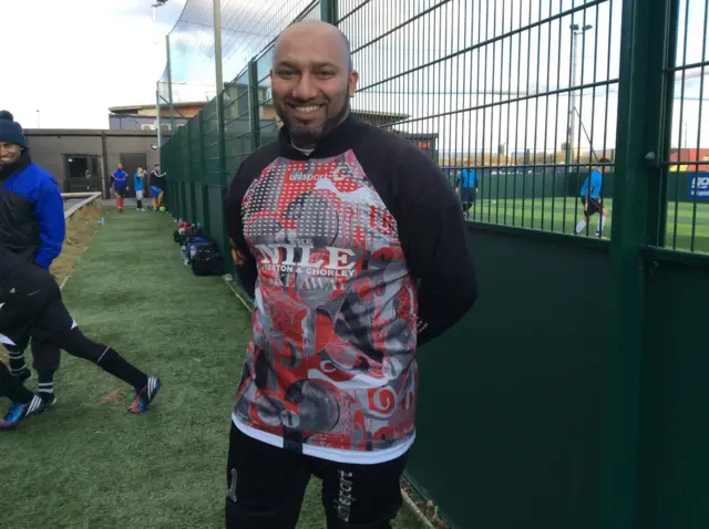
<path fill-rule="evenodd" d="M 18 267 L 0 282 L 0 341 L 19 351 L 31 338 L 35 369 L 56 369 L 60 350 L 50 338 L 75 323 L 54 278 L 34 264 Z"/>

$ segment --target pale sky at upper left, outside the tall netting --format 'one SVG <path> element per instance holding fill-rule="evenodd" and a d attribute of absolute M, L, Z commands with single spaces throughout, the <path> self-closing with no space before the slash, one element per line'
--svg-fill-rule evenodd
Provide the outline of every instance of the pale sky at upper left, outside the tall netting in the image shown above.
<path fill-rule="evenodd" d="M 0 107 L 25 128 L 107 128 L 109 107 L 155 103 L 164 35 L 185 0 L 153 23 L 151 0 L 0 0 Z"/>

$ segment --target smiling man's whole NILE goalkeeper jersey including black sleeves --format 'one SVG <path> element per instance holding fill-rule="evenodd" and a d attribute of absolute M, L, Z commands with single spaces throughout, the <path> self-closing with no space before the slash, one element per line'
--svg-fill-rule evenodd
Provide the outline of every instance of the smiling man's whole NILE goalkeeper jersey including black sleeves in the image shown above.
<path fill-rule="evenodd" d="M 254 297 L 236 426 L 331 460 L 403 454 L 414 438 L 417 344 L 476 293 L 461 209 L 440 169 L 352 117 L 310 154 L 282 128 L 242 164 L 227 218 Z"/>

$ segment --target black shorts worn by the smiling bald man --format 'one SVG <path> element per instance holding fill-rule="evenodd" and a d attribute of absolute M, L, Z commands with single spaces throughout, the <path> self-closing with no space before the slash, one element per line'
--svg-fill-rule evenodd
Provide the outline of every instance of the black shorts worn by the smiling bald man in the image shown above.
<path fill-rule="evenodd" d="M 294 529 L 311 476 L 322 480 L 328 529 L 389 529 L 401 508 L 407 456 L 376 465 L 335 463 L 253 439 L 232 424 L 227 529 Z"/>

